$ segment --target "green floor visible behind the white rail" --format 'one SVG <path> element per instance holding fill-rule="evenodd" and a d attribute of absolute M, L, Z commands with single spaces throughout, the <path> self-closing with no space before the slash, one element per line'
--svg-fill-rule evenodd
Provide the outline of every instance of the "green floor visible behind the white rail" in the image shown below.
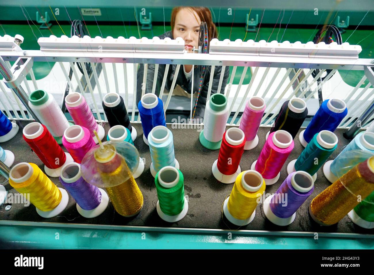
<path fill-rule="evenodd" d="M 30 22 L 31 24 L 31 22 Z M 59 25 L 52 25 L 50 30 L 39 30 L 39 25 L 36 26 L 31 24 L 29 25 L 14 25 L 14 24 L 4 24 L 2 25 L 3 33 L 9 34 L 11 36 L 14 36 L 15 34 L 22 34 L 24 36 L 24 43 L 22 44 L 23 49 L 39 49 L 39 45 L 37 43 L 37 38 L 39 37 L 46 37 L 51 35 L 52 33 L 55 36 L 61 36 L 64 33 L 70 36 L 70 25 L 61 25 L 61 28 Z M 124 36 L 124 37 L 148 37 L 152 38 L 153 36 L 158 36 L 164 32 L 163 26 L 153 26 L 153 30 L 151 31 L 139 31 L 138 28 L 135 25 L 87 25 L 89 34 L 91 37 L 95 36 Z M 62 29 L 62 30 L 61 30 Z M 166 26 L 166 31 L 170 30 L 170 26 Z M 64 31 L 64 33 L 62 32 Z M 140 35 L 139 35 L 140 33 Z M 284 33 L 284 35 L 283 35 Z M 223 40 L 226 38 L 230 38 L 231 40 L 235 39 L 256 39 L 256 41 L 259 41 L 261 39 L 264 40 L 281 40 L 281 41 L 291 41 L 294 42 L 295 40 L 300 40 L 303 43 L 308 42 L 309 40 L 312 40 L 314 35 L 316 33 L 316 30 L 314 29 L 297 29 L 297 28 L 287 28 L 285 31 L 285 28 L 260 28 L 260 31 L 257 33 L 248 32 L 245 33 L 244 27 L 219 27 L 218 28 L 218 34 L 219 39 Z M 348 37 L 353 33 L 353 30 L 347 30 L 346 33 L 342 35 L 343 41 L 346 41 Z M 363 38 L 369 36 L 372 34 L 372 30 L 356 30 L 355 33 L 349 37 L 349 40 L 347 42 L 351 44 L 355 44 L 360 42 Z M 257 38 L 256 38 L 257 35 Z M 362 47 L 362 52 L 359 55 L 360 58 L 374 58 L 373 51 L 374 51 L 374 34 L 367 37 L 365 40 L 360 42 L 360 45 Z M 34 73 L 36 76 L 36 79 L 41 79 L 49 73 L 50 69 L 53 67 L 53 62 L 35 62 L 34 63 Z M 234 84 L 238 84 L 240 80 L 240 76 L 242 74 L 243 68 L 238 68 L 235 74 L 234 78 Z M 230 68 L 230 74 L 232 72 L 232 67 Z M 344 82 L 351 86 L 356 86 L 356 84 L 359 82 L 359 80 L 364 76 L 363 71 L 346 71 L 342 70 L 340 71 L 341 76 L 343 77 Z M 28 79 L 31 79 L 30 76 L 28 76 Z M 248 84 L 249 80 L 251 79 L 251 73 L 248 70 L 247 74 L 244 78 L 243 84 Z M 362 87 L 364 87 L 367 83 L 364 83 Z"/>

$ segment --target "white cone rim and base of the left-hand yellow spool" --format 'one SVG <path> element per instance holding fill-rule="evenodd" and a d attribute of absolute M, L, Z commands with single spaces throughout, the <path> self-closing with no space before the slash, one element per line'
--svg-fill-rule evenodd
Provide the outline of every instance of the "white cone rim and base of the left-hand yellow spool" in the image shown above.
<path fill-rule="evenodd" d="M 30 164 L 27 162 L 21 162 L 10 169 L 9 178 L 15 183 L 22 183 L 29 180 L 33 173 L 34 169 Z M 36 208 L 36 212 L 39 216 L 43 218 L 52 218 L 61 214 L 61 212 L 65 210 L 68 205 L 69 196 L 65 189 L 60 187 L 58 187 L 58 189 L 61 191 L 62 195 L 60 203 L 50 211 L 42 211 L 39 208 Z"/>

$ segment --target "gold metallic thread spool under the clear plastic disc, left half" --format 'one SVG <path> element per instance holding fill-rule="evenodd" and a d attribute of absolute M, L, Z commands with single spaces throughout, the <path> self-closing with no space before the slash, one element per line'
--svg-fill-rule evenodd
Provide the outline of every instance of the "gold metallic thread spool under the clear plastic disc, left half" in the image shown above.
<path fill-rule="evenodd" d="M 98 148 L 94 154 L 98 162 L 98 172 L 103 181 L 109 178 L 111 181 L 115 181 L 116 178 L 118 180 L 124 177 L 129 178 L 117 186 L 106 187 L 110 201 L 121 216 L 135 216 L 143 207 L 143 195 L 125 159 L 116 153 L 116 149 L 110 144 L 104 146 L 105 152 Z"/>

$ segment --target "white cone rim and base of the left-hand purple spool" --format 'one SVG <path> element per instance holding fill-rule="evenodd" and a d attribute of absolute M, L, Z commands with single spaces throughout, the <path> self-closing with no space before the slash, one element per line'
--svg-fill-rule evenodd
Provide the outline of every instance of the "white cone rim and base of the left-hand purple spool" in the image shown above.
<path fill-rule="evenodd" d="M 79 180 L 82 177 L 80 172 L 80 164 L 76 162 L 65 164 L 61 169 L 61 178 L 65 183 L 73 183 Z M 84 210 L 82 207 L 76 203 L 77 211 L 85 218 L 95 218 L 102 214 L 109 204 L 108 194 L 101 188 L 99 188 L 101 193 L 101 202 L 100 204 L 92 210 Z"/>

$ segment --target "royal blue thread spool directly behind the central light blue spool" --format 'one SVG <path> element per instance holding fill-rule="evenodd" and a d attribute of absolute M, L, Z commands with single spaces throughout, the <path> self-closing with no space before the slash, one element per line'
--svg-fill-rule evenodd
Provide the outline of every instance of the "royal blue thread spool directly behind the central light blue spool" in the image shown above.
<path fill-rule="evenodd" d="M 145 94 L 138 103 L 138 110 L 143 128 L 143 141 L 149 145 L 148 135 L 152 128 L 166 126 L 162 100 L 155 94 Z"/>

